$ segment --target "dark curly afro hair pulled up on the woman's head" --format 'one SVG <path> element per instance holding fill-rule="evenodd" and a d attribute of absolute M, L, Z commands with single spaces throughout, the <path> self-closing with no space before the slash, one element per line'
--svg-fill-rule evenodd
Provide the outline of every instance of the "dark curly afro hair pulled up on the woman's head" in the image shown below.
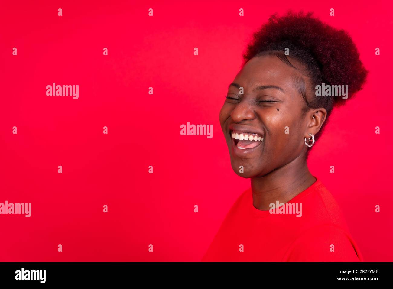
<path fill-rule="evenodd" d="M 306 87 L 304 79 L 296 79 L 299 94 L 305 100 L 303 113 L 309 108 L 324 107 L 329 115 L 333 107 L 343 105 L 345 99 L 341 96 L 315 96 L 312 92 L 315 92 L 316 85 L 348 85 L 349 99 L 362 89 L 368 72 L 348 33 L 324 24 L 312 14 L 289 11 L 283 17 L 278 17 L 277 13 L 272 15 L 253 34 L 242 55 L 242 66 L 255 56 L 273 54 L 296 68 L 285 55 L 285 49 L 289 48 L 289 57 L 305 65 L 306 76 L 310 80 L 309 87 Z M 326 123 L 327 120 L 323 127 Z M 319 135 L 321 133 L 322 127 Z"/>

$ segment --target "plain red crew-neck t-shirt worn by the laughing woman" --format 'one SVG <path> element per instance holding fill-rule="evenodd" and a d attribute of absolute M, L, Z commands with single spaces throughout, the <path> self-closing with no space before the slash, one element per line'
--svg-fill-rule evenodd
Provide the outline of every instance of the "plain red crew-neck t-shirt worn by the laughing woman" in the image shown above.
<path fill-rule="evenodd" d="M 319 179 L 287 203 L 292 206 L 281 207 L 286 214 L 271 214 L 273 209 L 253 206 L 251 188 L 244 191 L 202 262 L 363 261 L 337 202 Z"/>

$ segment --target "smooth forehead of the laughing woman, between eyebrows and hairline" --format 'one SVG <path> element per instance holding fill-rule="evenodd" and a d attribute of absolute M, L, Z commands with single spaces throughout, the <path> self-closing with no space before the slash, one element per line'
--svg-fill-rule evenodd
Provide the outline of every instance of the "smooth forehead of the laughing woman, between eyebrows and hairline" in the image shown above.
<path fill-rule="evenodd" d="M 275 55 L 264 55 L 250 59 L 236 75 L 234 83 L 244 87 L 248 93 L 263 85 L 274 85 L 291 94 L 296 90 L 296 69 Z"/>

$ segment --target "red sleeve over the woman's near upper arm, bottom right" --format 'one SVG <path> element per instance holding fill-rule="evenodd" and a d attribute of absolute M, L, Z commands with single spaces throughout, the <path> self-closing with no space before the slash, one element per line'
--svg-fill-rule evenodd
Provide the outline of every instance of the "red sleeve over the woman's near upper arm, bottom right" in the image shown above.
<path fill-rule="evenodd" d="M 289 262 L 363 261 L 352 237 L 334 225 L 318 226 L 301 234 L 286 253 Z"/>

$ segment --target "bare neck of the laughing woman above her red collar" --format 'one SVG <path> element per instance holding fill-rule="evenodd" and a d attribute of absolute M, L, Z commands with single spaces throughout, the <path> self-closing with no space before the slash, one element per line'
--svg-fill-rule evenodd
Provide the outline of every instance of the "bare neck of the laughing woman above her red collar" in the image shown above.
<path fill-rule="evenodd" d="M 253 205 L 258 210 L 267 211 L 269 204 L 286 203 L 293 197 L 314 184 L 312 176 L 303 156 L 271 171 L 263 177 L 251 179 Z"/>

